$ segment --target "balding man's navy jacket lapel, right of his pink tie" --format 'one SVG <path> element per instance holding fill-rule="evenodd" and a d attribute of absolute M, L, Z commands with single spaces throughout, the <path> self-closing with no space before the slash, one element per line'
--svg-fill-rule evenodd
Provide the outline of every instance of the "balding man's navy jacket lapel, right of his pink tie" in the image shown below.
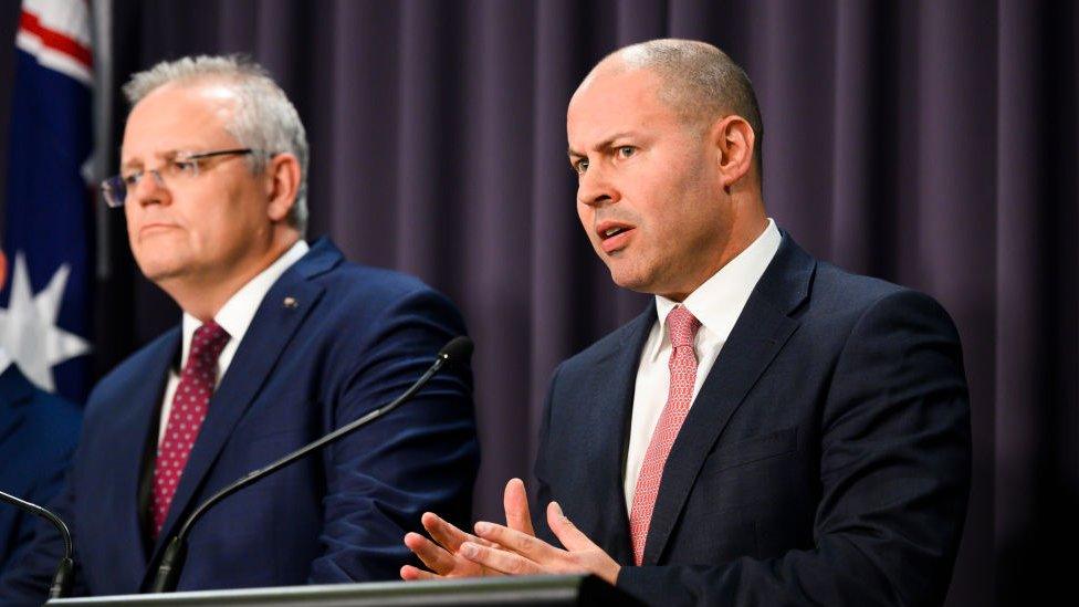
<path fill-rule="evenodd" d="M 671 448 L 645 544 L 645 565 L 659 562 L 712 446 L 798 327 L 789 314 L 806 299 L 815 268 L 813 258 L 784 234 Z"/>

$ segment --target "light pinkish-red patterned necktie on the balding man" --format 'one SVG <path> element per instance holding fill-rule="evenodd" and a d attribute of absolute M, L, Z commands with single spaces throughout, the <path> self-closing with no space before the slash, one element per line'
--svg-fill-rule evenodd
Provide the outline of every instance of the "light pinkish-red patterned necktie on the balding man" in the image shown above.
<path fill-rule="evenodd" d="M 684 306 L 677 306 L 667 315 L 667 331 L 671 337 L 671 358 L 667 366 L 671 370 L 671 386 L 667 393 L 667 406 L 660 415 L 656 430 L 645 451 L 633 505 L 629 515 L 629 532 L 633 540 L 633 563 L 640 565 L 645 558 L 645 541 L 652 522 L 652 509 L 663 480 L 663 465 L 671 452 L 678 431 L 690 412 L 693 402 L 693 385 L 696 383 L 696 354 L 693 339 L 701 322 Z"/>

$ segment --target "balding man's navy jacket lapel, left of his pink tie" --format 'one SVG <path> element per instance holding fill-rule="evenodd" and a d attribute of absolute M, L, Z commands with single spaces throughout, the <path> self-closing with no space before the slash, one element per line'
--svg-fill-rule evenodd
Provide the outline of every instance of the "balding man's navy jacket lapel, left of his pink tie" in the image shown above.
<path fill-rule="evenodd" d="M 597 512 L 603 520 L 579 521 L 582 528 L 593 532 L 600 545 L 619 563 L 632 563 L 632 545 L 626 535 L 629 514 L 626 512 L 625 478 L 626 449 L 632 419 L 633 393 L 641 348 L 656 322 L 654 301 L 629 326 L 624 341 L 596 364 L 595 378 L 584 402 L 593 416 L 590 427 L 596 430 L 589 449 L 595 454 L 587 467 L 587 490 L 577 492 L 587 500 L 598 499 L 600 507 L 575 509 Z M 620 346 L 620 347 L 618 347 Z M 598 533 L 596 533 L 598 532 Z"/>

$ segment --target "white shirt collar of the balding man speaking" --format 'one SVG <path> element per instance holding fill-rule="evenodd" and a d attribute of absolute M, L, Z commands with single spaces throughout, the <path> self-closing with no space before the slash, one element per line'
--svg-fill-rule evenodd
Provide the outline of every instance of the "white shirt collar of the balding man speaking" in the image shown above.
<path fill-rule="evenodd" d="M 768 226 L 723 268 L 712 274 L 700 286 L 690 293 L 685 301 L 675 302 L 662 295 L 656 295 L 656 313 L 659 316 L 661 339 L 648 353 L 652 359 L 659 356 L 660 349 L 670 342 L 667 335 L 667 315 L 681 303 L 701 322 L 701 331 L 706 331 L 720 341 L 725 342 L 734 328 L 734 323 L 742 315 L 745 303 L 750 300 L 753 289 L 757 285 L 764 271 L 772 263 L 772 258 L 779 250 L 783 236 L 776 228 L 775 221 L 768 218 Z"/>

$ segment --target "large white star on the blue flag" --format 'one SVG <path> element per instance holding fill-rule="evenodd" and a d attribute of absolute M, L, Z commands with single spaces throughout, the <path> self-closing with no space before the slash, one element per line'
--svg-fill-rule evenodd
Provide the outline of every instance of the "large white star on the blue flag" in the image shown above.
<path fill-rule="evenodd" d="M 0 346 L 42 389 L 55 391 L 52 367 L 90 352 L 90 344 L 56 326 L 71 266 L 61 265 L 43 291 L 33 296 L 22 252 L 15 253 L 8 308 L 0 307 Z"/>

